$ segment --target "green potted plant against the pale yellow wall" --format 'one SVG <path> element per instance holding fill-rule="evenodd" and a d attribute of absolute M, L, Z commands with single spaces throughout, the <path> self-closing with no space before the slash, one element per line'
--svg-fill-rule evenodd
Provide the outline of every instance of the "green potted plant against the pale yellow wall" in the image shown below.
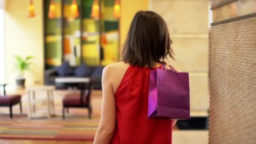
<path fill-rule="evenodd" d="M 24 72 L 26 70 L 30 69 L 30 66 L 32 62 L 30 61 L 33 57 L 32 56 L 27 56 L 25 59 L 22 59 L 21 56 L 15 56 L 16 59 L 16 64 L 15 68 L 19 70 L 19 75 L 16 78 L 16 85 L 17 87 L 24 88 L 25 85 L 25 77 L 24 77 Z"/>

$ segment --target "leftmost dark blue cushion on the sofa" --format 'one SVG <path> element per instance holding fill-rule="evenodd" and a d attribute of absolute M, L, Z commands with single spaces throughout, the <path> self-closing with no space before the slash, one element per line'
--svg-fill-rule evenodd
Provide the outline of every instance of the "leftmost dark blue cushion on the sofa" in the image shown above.
<path fill-rule="evenodd" d="M 56 72 L 60 76 L 74 75 L 74 70 L 70 67 L 69 62 L 66 61 L 61 66 L 56 67 Z"/>

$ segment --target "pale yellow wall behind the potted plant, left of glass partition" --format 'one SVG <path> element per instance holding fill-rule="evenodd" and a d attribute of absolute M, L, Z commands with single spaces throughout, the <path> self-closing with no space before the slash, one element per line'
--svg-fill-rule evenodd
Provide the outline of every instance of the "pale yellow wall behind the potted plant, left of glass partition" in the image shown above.
<path fill-rule="evenodd" d="M 43 1 L 34 0 L 35 17 L 28 17 L 29 0 L 5 0 L 6 81 L 15 84 L 15 55 L 33 56 L 32 69 L 25 73 L 26 85 L 43 84 Z"/>

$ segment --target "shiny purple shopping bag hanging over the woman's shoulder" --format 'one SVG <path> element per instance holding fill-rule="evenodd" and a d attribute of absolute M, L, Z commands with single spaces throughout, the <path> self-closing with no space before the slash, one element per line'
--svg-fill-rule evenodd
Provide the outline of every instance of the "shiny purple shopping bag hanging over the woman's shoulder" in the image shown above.
<path fill-rule="evenodd" d="M 148 117 L 190 119 L 189 74 L 167 70 L 150 70 Z"/>

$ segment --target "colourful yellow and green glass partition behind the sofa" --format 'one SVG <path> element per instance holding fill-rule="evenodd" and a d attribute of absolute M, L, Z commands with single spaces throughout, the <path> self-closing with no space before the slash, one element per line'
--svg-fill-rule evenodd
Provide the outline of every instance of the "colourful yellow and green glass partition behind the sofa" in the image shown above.
<path fill-rule="evenodd" d="M 106 66 L 119 59 L 119 21 L 113 17 L 115 0 L 99 0 L 101 18 L 91 18 L 93 0 L 76 0 L 79 16 L 71 13 L 73 0 L 54 0 L 56 18 L 49 19 L 51 0 L 44 1 L 45 69 L 69 61 L 72 66 Z M 62 14 L 61 14 L 62 13 Z"/>

